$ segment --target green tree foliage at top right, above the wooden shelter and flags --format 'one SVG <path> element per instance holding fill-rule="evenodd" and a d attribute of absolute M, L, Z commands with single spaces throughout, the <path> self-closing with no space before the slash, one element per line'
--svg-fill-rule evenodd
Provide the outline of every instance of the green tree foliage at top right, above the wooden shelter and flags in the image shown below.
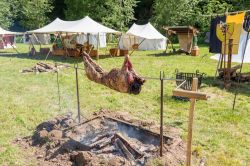
<path fill-rule="evenodd" d="M 248 0 L 155 0 L 152 20 L 158 27 L 192 25 L 206 32 L 211 19 L 204 15 L 246 10 L 249 3 Z"/>

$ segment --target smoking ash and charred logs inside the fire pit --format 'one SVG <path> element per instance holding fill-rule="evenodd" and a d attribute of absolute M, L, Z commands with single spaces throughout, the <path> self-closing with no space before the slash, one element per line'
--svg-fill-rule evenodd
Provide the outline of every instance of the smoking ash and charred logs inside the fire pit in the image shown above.
<path fill-rule="evenodd" d="M 144 165 L 157 156 L 159 135 L 127 122 L 100 117 L 83 124 L 86 131 L 79 141 L 90 148 L 94 154 L 120 156 L 131 164 Z M 165 143 L 171 144 L 172 138 L 164 137 Z"/>

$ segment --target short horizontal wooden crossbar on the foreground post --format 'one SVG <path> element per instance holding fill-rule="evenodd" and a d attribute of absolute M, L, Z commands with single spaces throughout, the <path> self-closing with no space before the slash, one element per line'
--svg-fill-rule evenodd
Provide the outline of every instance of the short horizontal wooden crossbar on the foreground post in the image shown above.
<path fill-rule="evenodd" d="M 187 91 L 181 89 L 173 90 L 173 96 L 187 97 L 190 99 L 207 100 L 209 96 L 206 93 Z"/>

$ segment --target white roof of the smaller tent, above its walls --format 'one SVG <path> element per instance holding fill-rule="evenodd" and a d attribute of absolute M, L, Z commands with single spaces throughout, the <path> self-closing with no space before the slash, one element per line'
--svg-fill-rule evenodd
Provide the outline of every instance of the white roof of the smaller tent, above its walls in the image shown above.
<path fill-rule="evenodd" d="M 145 39 L 165 39 L 166 37 L 160 34 L 150 23 L 145 25 L 133 24 L 127 31 L 128 35 L 134 35 Z"/>

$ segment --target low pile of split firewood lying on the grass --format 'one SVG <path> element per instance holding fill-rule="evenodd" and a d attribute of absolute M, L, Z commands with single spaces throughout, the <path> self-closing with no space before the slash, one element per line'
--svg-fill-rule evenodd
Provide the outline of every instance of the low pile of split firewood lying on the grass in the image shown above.
<path fill-rule="evenodd" d="M 38 62 L 34 67 L 23 69 L 22 73 L 41 73 L 41 72 L 55 72 L 61 68 L 68 68 L 68 65 L 64 64 L 52 64 L 52 63 L 45 63 L 45 62 Z"/>

